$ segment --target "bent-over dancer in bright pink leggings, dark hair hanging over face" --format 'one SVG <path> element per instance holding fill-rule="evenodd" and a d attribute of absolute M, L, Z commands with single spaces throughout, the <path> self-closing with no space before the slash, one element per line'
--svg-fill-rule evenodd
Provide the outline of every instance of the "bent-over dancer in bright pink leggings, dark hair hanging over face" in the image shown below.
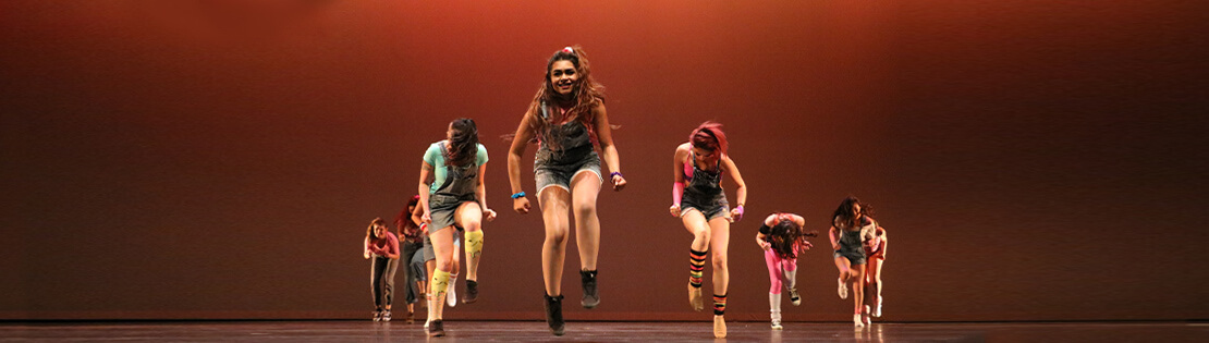
<path fill-rule="evenodd" d="M 781 330 L 781 287 L 789 291 L 789 302 L 802 304 L 798 295 L 798 252 L 814 248 L 806 237 L 816 237 L 818 232 L 802 233 L 806 220 L 796 214 L 774 213 L 764 219 L 756 233 L 756 245 L 764 250 L 764 263 L 768 266 L 768 304 L 773 319 L 773 330 Z"/>

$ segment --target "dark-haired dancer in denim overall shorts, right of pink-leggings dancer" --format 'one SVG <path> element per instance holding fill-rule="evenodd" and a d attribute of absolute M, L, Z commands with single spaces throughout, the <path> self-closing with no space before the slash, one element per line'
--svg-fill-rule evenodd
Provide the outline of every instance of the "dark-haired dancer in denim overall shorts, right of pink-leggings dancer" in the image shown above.
<path fill-rule="evenodd" d="M 852 325 L 856 329 L 869 324 L 868 313 L 864 310 L 864 242 L 873 238 L 878 227 L 877 221 L 869 217 L 868 207 L 861 204 L 856 197 L 848 197 L 840 202 L 832 216 L 831 242 L 835 250 L 835 268 L 839 269 L 839 298 L 848 298 L 849 283 L 852 284 Z"/>

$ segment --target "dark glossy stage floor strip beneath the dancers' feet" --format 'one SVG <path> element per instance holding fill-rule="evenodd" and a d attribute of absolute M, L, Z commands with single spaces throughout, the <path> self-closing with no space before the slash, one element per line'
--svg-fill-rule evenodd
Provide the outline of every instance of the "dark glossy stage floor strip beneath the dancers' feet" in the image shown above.
<path fill-rule="evenodd" d="M 423 322 L 144 321 L 0 324 L 0 342 L 417 342 Z M 701 342 L 711 322 L 568 322 L 555 337 L 540 321 L 447 321 L 444 342 Z M 728 322 L 735 342 L 1209 342 L 1209 322 Z M 722 341 L 722 339 L 718 339 Z"/>

